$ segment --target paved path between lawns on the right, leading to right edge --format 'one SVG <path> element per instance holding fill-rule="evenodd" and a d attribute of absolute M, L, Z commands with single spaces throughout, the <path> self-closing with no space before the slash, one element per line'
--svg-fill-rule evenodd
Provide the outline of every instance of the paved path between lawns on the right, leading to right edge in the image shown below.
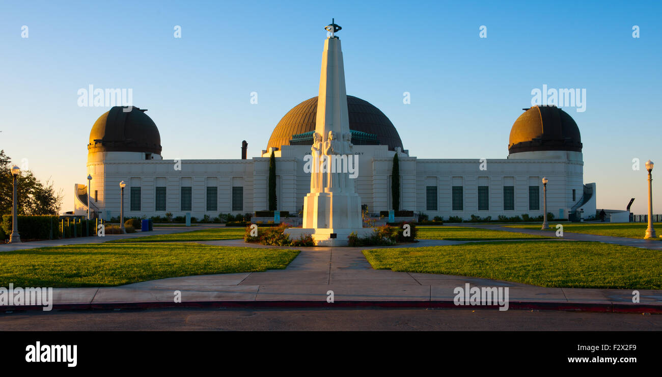
<path fill-rule="evenodd" d="M 526 233 L 528 235 L 539 235 L 539 236 L 553 236 L 555 235 L 556 225 L 551 223 L 549 227 L 551 231 L 542 231 L 535 229 L 520 229 L 520 228 L 508 228 L 504 225 L 493 225 L 493 224 L 457 224 L 457 226 L 471 227 L 471 228 L 481 228 L 481 229 L 492 229 L 495 231 L 506 231 L 514 233 Z M 559 237 L 560 238 L 560 237 Z M 563 239 L 568 241 L 592 241 L 592 242 L 605 242 L 611 244 L 621 244 L 624 246 L 634 246 L 641 248 L 651 248 L 653 250 L 662 250 L 662 241 L 661 240 L 645 240 L 645 239 L 629 239 L 626 237 L 611 237 L 611 236 L 599 236 L 599 235 L 587 235 L 585 233 L 572 233 L 572 232 L 563 232 Z"/>

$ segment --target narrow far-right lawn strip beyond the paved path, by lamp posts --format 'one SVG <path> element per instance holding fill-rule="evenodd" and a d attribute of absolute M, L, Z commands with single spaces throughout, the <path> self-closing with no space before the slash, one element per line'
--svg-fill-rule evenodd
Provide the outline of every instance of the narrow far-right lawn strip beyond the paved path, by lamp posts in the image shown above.
<path fill-rule="evenodd" d="M 647 223 L 563 223 L 563 232 L 586 233 L 588 235 L 627 237 L 629 239 L 643 239 L 646 233 Z M 540 225 L 506 225 L 509 228 L 538 229 Z M 662 223 L 655 223 L 653 227 L 662 231 Z M 556 231 L 556 224 L 549 223 L 549 231 Z"/>

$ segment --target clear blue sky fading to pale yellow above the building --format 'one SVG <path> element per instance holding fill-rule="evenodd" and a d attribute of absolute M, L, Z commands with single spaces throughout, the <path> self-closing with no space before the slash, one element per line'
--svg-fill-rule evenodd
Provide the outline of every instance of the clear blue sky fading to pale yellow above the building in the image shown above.
<path fill-rule="evenodd" d="M 379 107 L 418 158 L 505 158 L 531 90 L 587 89 L 565 110 L 598 207 L 646 211 L 643 162 L 659 162 L 658 1 L 3 1 L 0 148 L 40 179 L 85 182 L 89 130 L 107 107 L 77 91 L 132 88 L 164 158 L 239 158 L 317 94 L 324 25 L 343 27 L 348 94 Z M 28 26 L 28 38 L 21 27 Z M 182 37 L 173 37 L 181 26 Z M 479 38 L 479 27 L 487 38 Z M 638 25 L 640 38 L 632 38 Z M 250 93 L 258 92 L 258 104 Z M 402 93 L 411 93 L 411 104 Z M 632 170 L 632 159 L 641 170 Z M 655 171 L 653 172 L 655 173 Z M 662 213 L 662 180 L 655 212 Z"/>

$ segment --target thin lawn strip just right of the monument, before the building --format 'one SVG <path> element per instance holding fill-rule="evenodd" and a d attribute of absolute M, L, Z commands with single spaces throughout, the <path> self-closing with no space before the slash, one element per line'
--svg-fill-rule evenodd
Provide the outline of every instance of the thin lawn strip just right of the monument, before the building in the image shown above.
<path fill-rule="evenodd" d="M 527 235 L 526 233 L 513 233 L 508 231 L 493 231 L 492 229 L 480 229 L 469 227 L 416 227 L 418 239 L 424 240 L 448 240 L 448 241 L 484 241 L 484 240 L 515 240 L 515 239 L 549 239 Z"/>

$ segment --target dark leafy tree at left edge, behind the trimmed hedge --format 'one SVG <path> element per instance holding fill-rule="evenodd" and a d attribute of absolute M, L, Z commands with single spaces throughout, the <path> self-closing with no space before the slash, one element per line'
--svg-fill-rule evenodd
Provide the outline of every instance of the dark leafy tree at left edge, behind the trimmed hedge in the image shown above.
<path fill-rule="evenodd" d="M 0 150 L 0 215 L 11 215 L 14 179 L 11 166 L 11 158 Z M 30 170 L 21 171 L 17 184 L 19 215 L 58 215 L 64 195 L 62 189 L 56 193 L 50 178 L 39 182 Z"/>

